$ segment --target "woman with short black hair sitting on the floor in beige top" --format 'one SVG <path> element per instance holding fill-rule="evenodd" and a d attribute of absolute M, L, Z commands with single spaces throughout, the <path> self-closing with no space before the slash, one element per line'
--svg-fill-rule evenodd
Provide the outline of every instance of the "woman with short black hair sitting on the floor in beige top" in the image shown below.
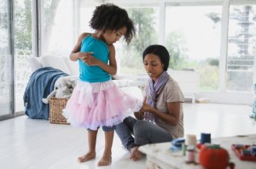
<path fill-rule="evenodd" d="M 143 107 L 134 113 L 136 118 L 126 117 L 115 129 L 134 161 L 142 157 L 138 146 L 183 138 L 184 97 L 177 82 L 166 72 L 169 60 L 164 46 L 151 45 L 144 50 L 143 63 L 150 80 Z"/>

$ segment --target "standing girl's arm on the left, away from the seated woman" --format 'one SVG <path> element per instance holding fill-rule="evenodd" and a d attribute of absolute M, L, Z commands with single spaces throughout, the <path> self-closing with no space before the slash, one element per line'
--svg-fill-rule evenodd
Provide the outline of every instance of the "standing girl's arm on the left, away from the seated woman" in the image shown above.
<path fill-rule="evenodd" d="M 78 59 L 82 59 L 83 57 L 86 56 L 87 53 L 80 53 L 80 48 L 81 48 L 81 43 L 84 39 L 84 37 L 87 37 L 89 35 L 89 33 L 82 33 L 79 36 L 79 40 L 77 42 L 77 44 L 74 46 L 71 54 L 69 54 L 69 59 L 73 60 L 73 61 L 77 61 Z"/>

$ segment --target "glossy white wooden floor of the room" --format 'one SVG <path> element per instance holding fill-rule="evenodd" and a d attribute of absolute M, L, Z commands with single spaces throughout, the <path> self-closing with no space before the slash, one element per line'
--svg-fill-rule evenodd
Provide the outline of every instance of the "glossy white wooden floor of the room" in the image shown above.
<path fill-rule="evenodd" d="M 249 118 L 252 107 L 235 104 L 184 104 L 185 134 L 211 132 L 212 138 L 256 133 L 256 121 Z M 171 145 L 171 144 L 170 144 Z M 117 135 L 113 140 L 111 166 L 96 166 L 104 149 L 104 133 L 98 133 L 96 159 L 79 163 L 87 149 L 86 130 L 50 124 L 22 115 L 0 121 L 0 168 L 3 169 L 137 169 L 142 161 L 131 161 Z"/>

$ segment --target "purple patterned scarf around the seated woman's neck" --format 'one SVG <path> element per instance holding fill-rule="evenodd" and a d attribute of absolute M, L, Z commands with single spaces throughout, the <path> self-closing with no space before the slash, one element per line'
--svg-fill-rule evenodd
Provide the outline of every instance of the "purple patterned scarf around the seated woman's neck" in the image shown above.
<path fill-rule="evenodd" d="M 170 76 L 166 71 L 164 71 L 155 82 L 152 79 L 149 80 L 148 90 L 146 91 L 147 104 L 155 108 L 155 99 L 162 92 L 163 88 L 166 86 Z M 154 122 L 154 115 L 150 112 L 145 112 L 144 119 L 147 121 Z"/>

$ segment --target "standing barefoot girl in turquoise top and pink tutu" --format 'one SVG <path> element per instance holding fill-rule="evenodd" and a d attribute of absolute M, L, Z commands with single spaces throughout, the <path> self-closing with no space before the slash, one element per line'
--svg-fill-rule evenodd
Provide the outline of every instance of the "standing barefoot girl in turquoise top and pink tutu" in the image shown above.
<path fill-rule="evenodd" d="M 125 9 L 113 4 L 96 7 L 90 27 L 95 32 L 80 35 L 70 54 L 71 60 L 79 60 L 80 74 L 63 115 L 74 127 L 88 130 L 89 151 L 79 157 L 80 162 L 96 157 L 96 135 L 102 127 L 106 143 L 98 166 L 107 166 L 111 163 L 115 125 L 125 119 L 128 110 L 137 111 L 142 105 L 123 93 L 110 76 L 117 71 L 113 43 L 123 36 L 127 43 L 131 42 L 135 27 Z"/>

